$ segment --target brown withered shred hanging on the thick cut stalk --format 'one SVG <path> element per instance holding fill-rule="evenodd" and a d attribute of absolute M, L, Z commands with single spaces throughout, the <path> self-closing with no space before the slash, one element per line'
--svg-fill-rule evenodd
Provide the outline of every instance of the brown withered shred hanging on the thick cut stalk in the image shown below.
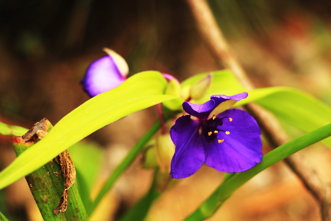
<path fill-rule="evenodd" d="M 65 177 L 64 191 L 61 196 L 59 205 L 53 210 L 55 216 L 60 212 L 65 212 L 68 206 L 69 188 L 74 184 L 76 179 L 76 170 L 73 165 L 68 150 L 63 151 L 55 158 L 55 161 L 61 165 L 61 170 Z"/>

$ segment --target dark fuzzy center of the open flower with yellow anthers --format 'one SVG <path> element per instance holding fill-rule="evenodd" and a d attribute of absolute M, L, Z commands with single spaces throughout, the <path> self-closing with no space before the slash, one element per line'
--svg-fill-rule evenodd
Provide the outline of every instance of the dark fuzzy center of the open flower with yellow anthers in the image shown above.
<path fill-rule="evenodd" d="M 223 125 L 224 118 L 228 118 L 229 121 L 232 121 L 231 117 L 225 116 L 219 118 L 216 117 L 215 115 L 213 115 L 213 117 L 208 120 L 201 121 L 201 127 L 200 127 L 201 134 L 205 136 L 205 139 L 208 143 L 215 142 L 216 140 L 218 141 L 218 143 L 222 143 L 224 141 L 224 139 L 219 139 L 217 137 L 219 131 L 225 131 L 217 128 L 218 126 Z M 225 134 L 230 134 L 230 132 L 225 131 Z"/>

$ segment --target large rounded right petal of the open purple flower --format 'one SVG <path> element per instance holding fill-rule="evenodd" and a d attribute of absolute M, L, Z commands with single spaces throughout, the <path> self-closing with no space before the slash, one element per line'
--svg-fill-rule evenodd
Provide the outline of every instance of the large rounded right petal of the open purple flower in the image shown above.
<path fill-rule="evenodd" d="M 261 162 L 261 132 L 256 120 L 247 112 L 231 109 L 217 115 L 223 119 L 218 129 L 221 143 L 204 142 L 206 164 L 218 171 L 242 172 Z M 231 118 L 231 121 L 229 118 Z"/>

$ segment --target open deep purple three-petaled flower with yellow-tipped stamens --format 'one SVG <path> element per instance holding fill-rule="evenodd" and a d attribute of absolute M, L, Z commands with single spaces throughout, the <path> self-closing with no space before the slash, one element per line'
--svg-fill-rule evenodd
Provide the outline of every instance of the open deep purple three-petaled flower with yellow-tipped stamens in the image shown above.
<path fill-rule="evenodd" d="M 190 115 L 179 117 L 170 129 L 176 146 L 170 167 L 173 178 L 189 177 L 203 163 L 234 173 L 261 162 L 259 125 L 247 112 L 230 109 L 247 96 L 246 92 L 230 97 L 213 95 L 202 105 L 183 103 Z"/>

